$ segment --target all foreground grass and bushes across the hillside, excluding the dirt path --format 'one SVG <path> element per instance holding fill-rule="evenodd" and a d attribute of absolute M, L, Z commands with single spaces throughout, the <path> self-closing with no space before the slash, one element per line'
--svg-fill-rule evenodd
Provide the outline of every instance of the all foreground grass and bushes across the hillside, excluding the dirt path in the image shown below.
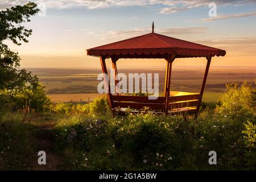
<path fill-rule="evenodd" d="M 51 140 L 46 152 L 58 158 L 54 169 L 255 170 L 255 118 L 255 91 L 246 83 L 228 85 L 220 103 L 204 104 L 197 120 L 150 111 L 113 118 L 106 97 L 51 105 L 47 113 L 5 112 L 0 169 L 38 169 L 44 135 Z M 54 125 L 42 127 L 48 122 Z M 209 151 L 217 152 L 217 165 L 209 165 Z"/>

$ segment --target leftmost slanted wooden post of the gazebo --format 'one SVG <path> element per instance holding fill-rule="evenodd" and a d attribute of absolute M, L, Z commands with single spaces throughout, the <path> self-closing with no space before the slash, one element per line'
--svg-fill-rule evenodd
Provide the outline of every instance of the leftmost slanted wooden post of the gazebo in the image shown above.
<path fill-rule="evenodd" d="M 106 69 L 106 57 L 100 56 L 100 60 L 101 60 L 101 69 L 102 69 L 102 73 L 104 74 L 104 82 L 105 82 L 105 86 L 108 86 L 108 100 L 109 100 L 109 106 L 110 109 L 112 110 L 112 114 L 114 115 L 114 108 L 113 108 L 113 100 L 112 100 L 112 93 L 110 92 L 110 83 L 109 83 L 109 79 L 107 80 L 108 77 L 108 70 Z"/>

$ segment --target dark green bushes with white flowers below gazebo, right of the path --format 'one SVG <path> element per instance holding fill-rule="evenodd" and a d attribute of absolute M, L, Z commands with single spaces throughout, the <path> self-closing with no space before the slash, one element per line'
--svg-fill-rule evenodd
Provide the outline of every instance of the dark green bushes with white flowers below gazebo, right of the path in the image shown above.
<path fill-rule="evenodd" d="M 246 150 L 244 129 L 240 120 L 213 111 L 186 122 L 151 113 L 110 119 L 74 115 L 56 126 L 55 143 L 66 169 L 255 170 L 256 151 Z"/>

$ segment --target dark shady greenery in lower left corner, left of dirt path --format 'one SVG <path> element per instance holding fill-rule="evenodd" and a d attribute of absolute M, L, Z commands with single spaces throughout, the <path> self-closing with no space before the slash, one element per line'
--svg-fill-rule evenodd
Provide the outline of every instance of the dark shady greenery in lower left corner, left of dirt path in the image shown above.
<path fill-rule="evenodd" d="M 35 154 L 35 129 L 11 113 L 0 119 L 0 170 L 29 169 Z"/>

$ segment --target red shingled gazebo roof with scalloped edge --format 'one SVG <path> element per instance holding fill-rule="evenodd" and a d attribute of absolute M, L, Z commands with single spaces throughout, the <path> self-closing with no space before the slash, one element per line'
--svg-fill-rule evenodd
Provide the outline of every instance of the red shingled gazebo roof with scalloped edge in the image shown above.
<path fill-rule="evenodd" d="M 226 51 L 222 49 L 154 32 L 90 48 L 86 51 L 90 56 L 116 56 L 118 58 L 163 58 L 172 53 L 176 53 L 176 57 L 225 56 L 226 54 Z"/>

